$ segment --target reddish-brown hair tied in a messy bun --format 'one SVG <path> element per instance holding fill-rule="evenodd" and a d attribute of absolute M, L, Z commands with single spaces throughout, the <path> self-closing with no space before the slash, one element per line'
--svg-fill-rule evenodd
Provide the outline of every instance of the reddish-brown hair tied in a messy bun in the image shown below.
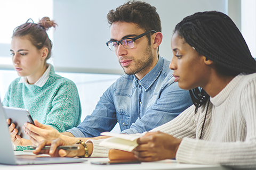
<path fill-rule="evenodd" d="M 32 22 L 28 22 L 31 20 Z M 52 41 L 49 39 L 46 31 L 51 27 L 58 25 L 45 16 L 38 23 L 34 23 L 32 19 L 28 19 L 26 23 L 21 24 L 13 30 L 12 37 L 28 36 L 31 43 L 39 50 L 43 47 L 48 48 L 49 53 L 46 57 L 48 60 L 51 57 Z"/>

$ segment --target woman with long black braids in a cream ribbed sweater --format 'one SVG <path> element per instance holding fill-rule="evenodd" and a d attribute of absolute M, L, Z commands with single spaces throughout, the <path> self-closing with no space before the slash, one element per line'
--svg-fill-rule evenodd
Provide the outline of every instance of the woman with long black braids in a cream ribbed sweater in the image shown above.
<path fill-rule="evenodd" d="M 256 167 L 256 62 L 234 22 L 198 12 L 174 29 L 170 69 L 194 105 L 139 138 L 141 161 Z"/>

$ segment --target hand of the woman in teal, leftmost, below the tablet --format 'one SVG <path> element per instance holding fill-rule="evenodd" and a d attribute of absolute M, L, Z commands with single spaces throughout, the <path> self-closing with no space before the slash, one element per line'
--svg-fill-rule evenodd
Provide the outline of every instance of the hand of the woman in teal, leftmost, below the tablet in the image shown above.
<path fill-rule="evenodd" d="M 10 119 L 8 118 L 6 120 L 7 124 L 9 124 L 9 132 L 10 132 L 10 137 L 12 142 L 14 143 L 14 145 L 16 146 L 29 146 L 32 143 L 30 142 L 30 140 L 27 139 L 23 139 L 20 137 L 20 135 L 18 135 L 18 130 L 15 128 L 15 124 L 11 123 Z"/>

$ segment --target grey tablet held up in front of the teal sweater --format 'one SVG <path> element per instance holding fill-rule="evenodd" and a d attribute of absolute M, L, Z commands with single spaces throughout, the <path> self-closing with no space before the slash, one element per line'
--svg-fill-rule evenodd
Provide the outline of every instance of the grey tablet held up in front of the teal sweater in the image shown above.
<path fill-rule="evenodd" d="M 11 123 L 15 124 L 15 128 L 18 130 L 18 135 L 23 139 L 29 139 L 24 133 L 22 126 L 24 123 L 28 122 L 34 124 L 34 121 L 29 114 L 27 109 L 14 108 L 14 107 L 3 107 L 5 111 L 6 118 L 10 118 Z"/>

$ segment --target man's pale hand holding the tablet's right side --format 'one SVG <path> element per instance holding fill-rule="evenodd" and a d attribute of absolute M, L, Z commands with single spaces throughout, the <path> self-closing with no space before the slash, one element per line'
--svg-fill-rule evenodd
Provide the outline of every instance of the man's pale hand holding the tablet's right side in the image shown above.
<path fill-rule="evenodd" d="M 37 146 L 44 140 L 54 140 L 60 137 L 60 132 L 52 128 L 51 126 L 34 121 L 35 126 L 30 123 L 25 123 L 23 129 L 25 134 L 29 137 L 33 145 Z"/>

